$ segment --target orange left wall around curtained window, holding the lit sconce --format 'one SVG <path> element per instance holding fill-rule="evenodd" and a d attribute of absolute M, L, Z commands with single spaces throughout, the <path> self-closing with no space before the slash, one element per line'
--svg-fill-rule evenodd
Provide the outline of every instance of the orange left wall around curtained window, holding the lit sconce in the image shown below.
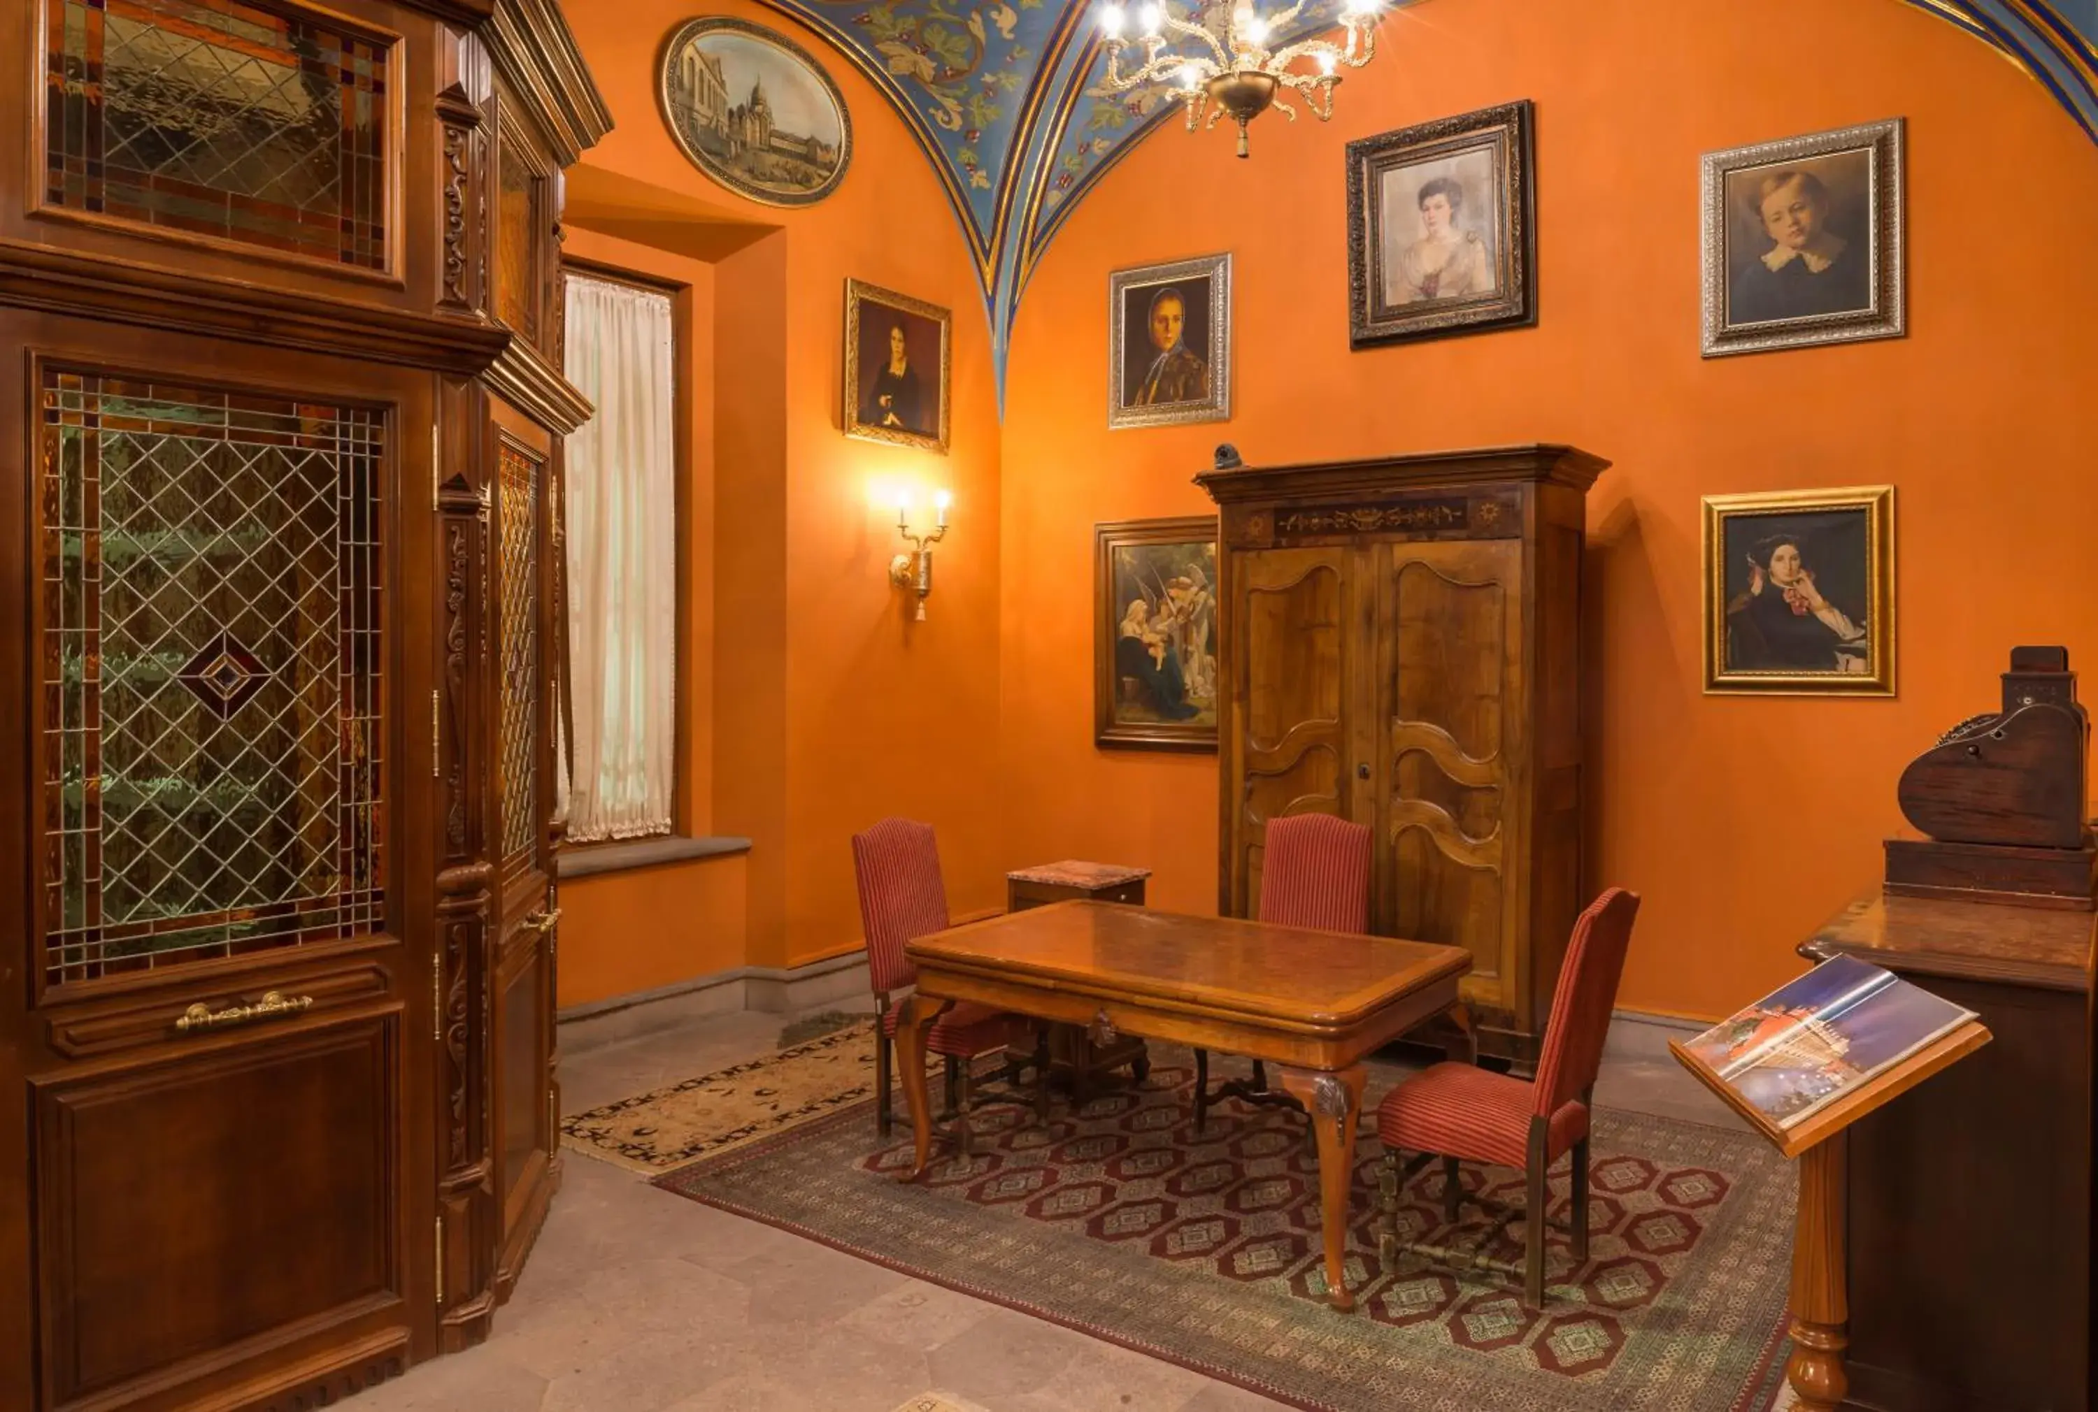
<path fill-rule="evenodd" d="M 997 900 L 999 846 L 984 799 L 997 774 L 999 424 L 976 277 L 946 197 L 902 120 L 852 63 L 774 10 L 709 13 L 791 34 L 845 94 L 852 166 L 829 199 L 806 210 L 745 201 L 671 143 L 655 103 L 655 61 L 690 6 L 636 0 L 566 13 L 615 117 L 585 166 L 690 193 L 730 220 L 778 227 L 715 266 L 707 827 L 753 839 L 738 961 L 795 965 L 858 946 L 848 839 L 892 812 L 940 829 L 957 908 Z M 955 311 L 950 455 L 839 434 L 848 275 Z M 896 512 L 871 501 L 875 485 L 955 493 L 927 623 L 906 623 L 902 594 L 887 583 L 900 548 Z M 663 936 L 663 913 L 646 908 L 682 902 L 646 875 L 594 883 L 598 911 L 587 925 L 569 921 L 564 955 L 581 944 L 623 953 L 619 974 L 636 988 L 720 969 Z M 569 1005 L 583 999 L 571 992 L 571 971 Z"/>

